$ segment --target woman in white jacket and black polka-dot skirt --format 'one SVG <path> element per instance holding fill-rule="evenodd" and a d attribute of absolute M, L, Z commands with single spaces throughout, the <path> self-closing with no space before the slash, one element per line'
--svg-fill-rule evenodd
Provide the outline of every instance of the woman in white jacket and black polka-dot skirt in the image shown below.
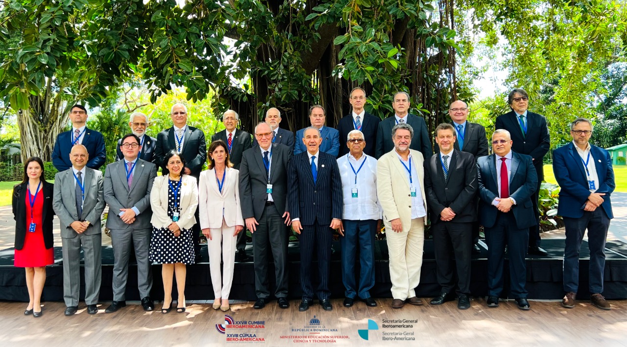
<path fill-rule="evenodd" d="M 195 177 L 184 174 L 184 168 L 185 158 L 176 150 L 168 152 L 162 163 L 163 175 L 155 178 L 150 191 L 149 260 L 162 264 L 164 314 L 172 309 L 172 274 L 179 293 L 176 311 L 185 312 L 186 264 L 194 264 L 192 225 L 196 224 L 198 186 Z"/>

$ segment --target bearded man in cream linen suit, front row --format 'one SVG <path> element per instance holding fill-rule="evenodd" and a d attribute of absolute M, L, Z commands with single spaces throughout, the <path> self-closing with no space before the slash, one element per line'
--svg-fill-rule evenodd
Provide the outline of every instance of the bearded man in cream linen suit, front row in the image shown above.
<path fill-rule="evenodd" d="M 414 130 L 407 123 L 392 128 L 394 150 L 377 162 L 377 195 L 383 207 L 387 249 L 392 280 L 392 308 L 401 308 L 405 301 L 422 305 L 414 289 L 420 282 L 423 264 L 424 197 L 423 155 L 410 150 Z"/>

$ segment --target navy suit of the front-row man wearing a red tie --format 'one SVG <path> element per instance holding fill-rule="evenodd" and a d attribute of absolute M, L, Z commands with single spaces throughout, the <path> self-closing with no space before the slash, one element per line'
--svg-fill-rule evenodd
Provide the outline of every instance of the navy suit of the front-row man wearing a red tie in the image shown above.
<path fill-rule="evenodd" d="M 538 178 L 531 157 L 512 152 L 509 196 L 516 201 L 516 205 L 507 213 L 500 212 L 492 205 L 492 201 L 500 196 L 495 157 L 492 154 L 477 159 L 481 198 L 479 220 L 485 227 L 485 241 L 488 244 L 488 295 L 500 296 L 503 291 L 503 261 L 507 244 L 512 295 L 514 298 L 527 298 L 525 255 L 529 227 L 535 224 L 531 196 L 537 187 Z"/>

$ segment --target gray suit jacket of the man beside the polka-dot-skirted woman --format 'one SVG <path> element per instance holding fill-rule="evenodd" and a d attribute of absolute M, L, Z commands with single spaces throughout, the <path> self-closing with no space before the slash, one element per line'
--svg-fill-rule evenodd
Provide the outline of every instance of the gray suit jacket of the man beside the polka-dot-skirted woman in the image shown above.
<path fill-rule="evenodd" d="M 137 159 L 133 172 L 133 182 L 127 184 L 126 169 L 124 159 L 107 165 L 105 170 L 105 201 L 109 205 L 107 217 L 107 227 L 113 230 L 134 230 L 152 229 L 150 218 L 150 190 L 152 182 L 157 177 L 157 167 L 153 163 Z M 119 217 L 120 209 L 130 209 L 136 207 L 139 215 L 135 217 L 135 222 L 126 224 Z"/>

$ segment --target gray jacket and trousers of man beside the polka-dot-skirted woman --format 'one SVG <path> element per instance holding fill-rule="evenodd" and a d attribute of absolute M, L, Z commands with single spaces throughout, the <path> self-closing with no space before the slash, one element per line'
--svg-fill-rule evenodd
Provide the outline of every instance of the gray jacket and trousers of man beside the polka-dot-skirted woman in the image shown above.
<path fill-rule="evenodd" d="M 140 298 L 150 296 L 152 271 L 148 260 L 150 236 L 152 235 L 152 210 L 150 190 L 157 177 L 157 167 L 153 163 L 137 159 L 133 169 L 133 179 L 129 190 L 127 168 L 124 158 L 107 165 L 105 171 L 105 201 L 109 205 L 107 228 L 111 230 L 113 246 L 113 300 L 124 301 L 126 281 L 129 276 L 130 247 L 135 248 L 137 259 L 137 285 Z M 126 224 L 120 217 L 120 209 L 135 207 L 139 214 L 135 222 Z"/>

